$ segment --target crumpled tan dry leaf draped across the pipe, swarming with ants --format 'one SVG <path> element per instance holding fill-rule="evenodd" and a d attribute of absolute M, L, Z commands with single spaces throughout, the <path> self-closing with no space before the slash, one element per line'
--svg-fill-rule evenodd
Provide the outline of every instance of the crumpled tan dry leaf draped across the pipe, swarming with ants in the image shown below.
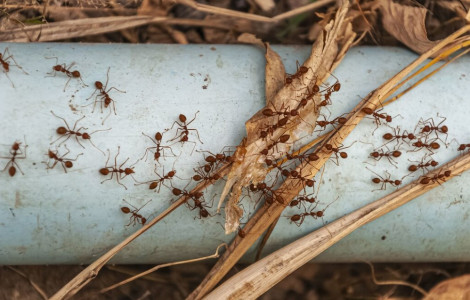
<path fill-rule="evenodd" d="M 312 47 L 310 57 L 304 62 L 303 66 L 308 71 L 299 79 L 294 79 L 291 84 L 283 84 L 282 88 L 275 95 L 268 108 L 276 110 L 296 108 L 306 93 L 311 90 L 314 85 L 319 85 L 329 75 L 334 67 L 344 56 L 346 50 L 349 49 L 355 34 L 352 32 L 351 25 L 344 24 L 343 20 L 347 13 L 347 5 L 340 9 L 335 19 L 329 22 L 322 30 L 320 37 Z M 341 45 L 341 48 L 339 48 Z M 265 155 L 260 153 L 261 150 L 267 149 L 273 141 L 278 141 L 281 135 L 289 135 L 289 140 L 284 144 L 277 144 L 277 148 L 273 147 L 269 152 L 270 159 L 278 159 L 283 153 L 290 150 L 291 145 L 299 138 L 313 132 L 319 110 L 315 111 L 315 107 L 321 101 L 320 94 L 313 97 L 313 101 L 308 101 L 307 105 L 299 109 L 299 115 L 290 117 L 285 127 L 279 126 L 268 136 L 267 139 L 259 137 L 260 130 L 272 126 L 277 123 L 276 116 L 266 117 L 262 110 L 258 111 L 245 124 L 247 137 L 244 139 L 243 145 L 237 148 L 233 155 L 234 163 L 227 178 L 225 188 L 222 192 L 219 205 L 220 208 L 223 199 L 230 192 L 230 199 L 225 207 L 226 223 L 225 231 L 230 233 L 235 231 L 239 226 L 239 219 L 243 211 L 238 207 L 242 188 L 250 183 L 258 183 L 264 180 L 269 173 L 269 169 L 265 166 Z"/>

